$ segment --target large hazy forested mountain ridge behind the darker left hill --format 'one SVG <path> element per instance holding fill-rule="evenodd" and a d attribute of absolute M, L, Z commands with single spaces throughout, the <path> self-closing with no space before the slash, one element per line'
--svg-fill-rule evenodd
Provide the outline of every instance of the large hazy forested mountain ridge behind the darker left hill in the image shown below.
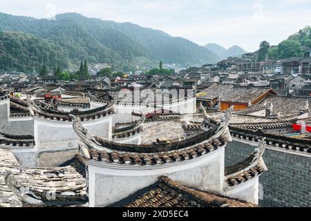
<path fill-rule="evenodd" d="M 133 23 L 89 19 L 75 13 L 57 15 L 55 20 L 0 13 L 0 31 L 30 33 L 41 42 L 58 46 L 63 57 L 46 61 L 50 67 L 65 65 L 64 62 L 58 63 L 59 59 L 64 58 L 67 58 L 67 66 L 79 64 L 82 59 L 87 59 L 89 63 L 120 65 L 138 61 L 156 65 L 158 61 L 163 61 L 182 66 L 200 66 L 220 59 L 204 47 L 187 39 L 171 37 L 160 30 L 142 28 Z M 39 59 L 45 61 L 46 58 Z"/>

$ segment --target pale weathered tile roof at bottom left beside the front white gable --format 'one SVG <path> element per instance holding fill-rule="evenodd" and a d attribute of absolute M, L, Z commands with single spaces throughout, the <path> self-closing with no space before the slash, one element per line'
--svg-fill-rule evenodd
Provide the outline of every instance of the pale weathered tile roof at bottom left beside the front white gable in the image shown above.
<path fill-rule="evenodd" d="M 6 184 L 24 204 L 68 206 L 88 202 L 86 180 L 71 166 L 20 168 L 19 173 L 6 176 Z"/>

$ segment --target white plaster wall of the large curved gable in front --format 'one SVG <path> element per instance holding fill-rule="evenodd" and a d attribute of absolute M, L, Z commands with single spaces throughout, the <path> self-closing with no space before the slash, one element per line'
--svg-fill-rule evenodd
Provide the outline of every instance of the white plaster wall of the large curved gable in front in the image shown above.
<path fill-rule="evenodd" d="M 155 166 L 88 162 L 90 206 L 113 204 L 167 175 L 187 186 L 220 193 L 223 189 L 225 148 L 193 160 Z"/>

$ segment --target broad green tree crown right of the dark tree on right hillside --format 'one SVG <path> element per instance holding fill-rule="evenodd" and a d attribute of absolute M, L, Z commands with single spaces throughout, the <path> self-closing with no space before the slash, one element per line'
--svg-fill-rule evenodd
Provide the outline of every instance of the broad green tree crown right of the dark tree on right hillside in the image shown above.
<path fill-rule="evenodd" d="M 299 41 L 285 40 L 278 46 L 279 59 L 303 56 Z"/>

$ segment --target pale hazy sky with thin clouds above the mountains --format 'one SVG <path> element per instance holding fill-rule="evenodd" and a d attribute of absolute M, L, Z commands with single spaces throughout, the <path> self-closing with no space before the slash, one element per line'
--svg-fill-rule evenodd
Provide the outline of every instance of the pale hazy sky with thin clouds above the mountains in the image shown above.
<path fill-rule="evenodd" d="M 311 0 L 0 0 L 0 12 L 36 18 L 64 12 L 129 21 L 200 45 L 254 51 L 311 25 Z"/>

